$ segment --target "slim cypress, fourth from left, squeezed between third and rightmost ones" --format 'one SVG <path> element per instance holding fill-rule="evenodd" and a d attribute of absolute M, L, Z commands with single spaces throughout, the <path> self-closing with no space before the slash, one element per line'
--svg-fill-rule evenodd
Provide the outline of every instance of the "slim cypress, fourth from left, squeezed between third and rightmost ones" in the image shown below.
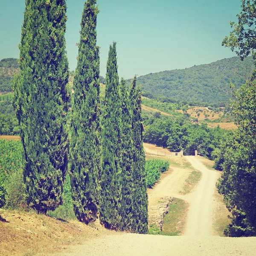
<path fill-rule="evenodd" d="M 122 201 L 121 201 L 121 217 L 122 230 L 132 232 L 132 206 L 133 206 L 133 192 L 134 180 L 132 172 L 133 162 L 133 140 L 131 130 L 131 112 L 128 101 L 128 92 L 125 84 L 125 79 L 121 79 L 120 84 L 121 109 L 122 109 Z"/>

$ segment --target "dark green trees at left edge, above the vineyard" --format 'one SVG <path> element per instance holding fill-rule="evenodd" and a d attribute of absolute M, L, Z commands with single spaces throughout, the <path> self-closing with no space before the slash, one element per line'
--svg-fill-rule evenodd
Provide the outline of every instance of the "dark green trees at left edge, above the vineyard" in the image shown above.
<path fill-rule="evenodd" d="M 20 128 L 10 100 L 0 103 L 0 135 L 18 135 Z"/>

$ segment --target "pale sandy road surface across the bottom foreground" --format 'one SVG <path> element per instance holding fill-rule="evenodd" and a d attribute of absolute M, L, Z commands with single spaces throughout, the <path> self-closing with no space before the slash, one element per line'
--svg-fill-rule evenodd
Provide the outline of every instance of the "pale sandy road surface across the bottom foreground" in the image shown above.
<path fill-rule="evenodd" d="M 256 255 L 256 238 L 120 234 L 72 246 L 61 256 L 226 256 Z"/>

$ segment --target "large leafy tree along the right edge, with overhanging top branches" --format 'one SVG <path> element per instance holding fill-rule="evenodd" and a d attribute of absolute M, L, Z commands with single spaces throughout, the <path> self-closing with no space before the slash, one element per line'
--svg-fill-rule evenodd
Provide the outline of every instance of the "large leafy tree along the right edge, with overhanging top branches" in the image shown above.
<path fill-rule="evenodd" d="M 255 10 L 256 1 L 242 0 L 239 22 L 231 22 L 234 30 L 223 45 L 230 47 L 243 60 L 249 54 L 256 59 Z M 219 193 L 224 195 L 231 223 L 224 231 L 226 236 L 256 236 L 256 67 L 250 81 L 239 90 L 233 88 L 231 106 L 236 115 L 238 131 L 232 140 L 226 140 L 217 158 L 216 166 L 223 169 L 218 183 Z"/>

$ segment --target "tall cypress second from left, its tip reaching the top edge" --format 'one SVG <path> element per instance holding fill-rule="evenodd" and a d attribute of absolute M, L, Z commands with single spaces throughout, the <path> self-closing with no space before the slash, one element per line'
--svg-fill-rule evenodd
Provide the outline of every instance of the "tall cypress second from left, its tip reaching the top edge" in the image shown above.
<path fill-rule="evenodd" d="M 88 224 L 97 218 L 99 204 L 99 47 L 96 45 L 96 0 L 84 3 L 78 64 L 74 77 L 71 185 L 74 210 Z"/>

